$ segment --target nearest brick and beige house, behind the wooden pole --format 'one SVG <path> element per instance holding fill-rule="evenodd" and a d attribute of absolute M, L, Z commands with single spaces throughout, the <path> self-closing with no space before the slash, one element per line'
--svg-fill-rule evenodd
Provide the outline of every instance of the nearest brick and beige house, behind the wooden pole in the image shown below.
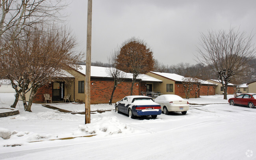
<path fill-rule="evenodd" d="M 63 101 L 63 97 L 71 94 L 69 100 L 75 102 L 85 102 L 85 65 L 80 65 L 80 69 L 70 67 L 67 76 L 63 80 L 55 80 L 48 85 L 38 89 L 33 100 L 34 103 L 44 102 L 43 94 L 50 94 L 53 102 Z M 106 72 L 107 67 L 91 66 L 91 104 L 108 103 L 113 90 L 114 81 Z M 62 78 L 61 78 L 62 79 Z M 148 75 L 139 75 L 133 87 L 133 95 L 141 95 L 146 91 L 147 83 L 160 83 L 161 80 Z M 130 95 L 132 85 L 132 74 L 127 73 L 123 82 L 117 85 L 112 102 L 117 102 Z M 26 95 L 28 98 L 28 95 Z"/>

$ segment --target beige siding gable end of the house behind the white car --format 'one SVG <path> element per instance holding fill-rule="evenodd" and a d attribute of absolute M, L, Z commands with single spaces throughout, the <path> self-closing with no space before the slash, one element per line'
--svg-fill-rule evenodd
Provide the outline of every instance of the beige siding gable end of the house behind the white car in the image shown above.
<path fill-rule="evenodd" d="M 165 78 L 165 77 L 162 77 L 162 76 L 159 76 L 159 75 L 156 75 L 156 74 L 154 74 L 154 73 L 150 73 L 150 72 L 148 72 L 148 73 L 146 73 L 146 75 L 148 75 L 148 76 L 152 76 L 152 77 L 154 77 L 154 78 L 157 78 L 157 79 L 159 79 L 159 80 L 162 80 L 163 82 L 161 82 L 161 83 L 154 83 L 153 85 L 152 85 L 152 90 L 153 91 L 155 91 L 155 92 L 160 92 L 160 93 L 163 93 L 164 95 L 166 95 L 166 94 L 170 94 L 170 95 L 174 95 L 175 94 L 175 82 L 173 81 L 173 80 L 170 80 L 170 79 L 168 79 L 168 78 Z M 167 92 L 166 91 L 166 85 L 167 84 L 173 84 L 173 92 Z M 154 86 L 154 87 L 153 87 Z M 153 89 L 154 88 L 154 89 Z"/>

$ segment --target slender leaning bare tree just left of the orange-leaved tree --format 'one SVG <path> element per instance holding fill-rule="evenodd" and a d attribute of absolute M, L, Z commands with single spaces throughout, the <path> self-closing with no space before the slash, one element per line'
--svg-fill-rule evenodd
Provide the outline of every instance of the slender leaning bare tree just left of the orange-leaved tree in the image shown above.
<path fill-rule="evenodd" d="M 108 73 L 109 76 L 113 77 L 114 79 L 114 86 L 113 86 L 113 90 L 109 100 L 109 105 L 112 105 L 112 99 L 115 93 L 115 89 L 117 88 L 117 85 L 120 84 L 126 76 L 125 72 L 116 68 L 117 55 L 119 55 L 119 53 L 120 53 L 120 50 L 115 49 L 112 53 L 110 53 L 108 57 L 108 63 L 110 67 L 106 68 L 106 72 Z"/>

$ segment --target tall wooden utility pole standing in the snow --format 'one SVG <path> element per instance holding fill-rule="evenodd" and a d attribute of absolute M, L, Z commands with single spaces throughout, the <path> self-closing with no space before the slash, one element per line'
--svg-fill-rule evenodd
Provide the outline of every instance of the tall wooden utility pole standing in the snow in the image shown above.
<path fill-rule="evenodd" d="M 91 123 L 91 19 L 92 19 L 92 0 L 88 0 L 86 71 L 85 71 L 85 124 Z"/>

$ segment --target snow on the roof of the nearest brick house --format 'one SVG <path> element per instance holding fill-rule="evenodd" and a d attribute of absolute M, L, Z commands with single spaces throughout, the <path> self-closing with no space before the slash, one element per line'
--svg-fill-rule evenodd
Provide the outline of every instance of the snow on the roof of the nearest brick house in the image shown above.
<path fill-rule="evenodd" d="M 82 69 L 77 69 L 80 73 L 85 75 L 85 65 L 80 65 Z M 92 77 L 107 77 L 107 78 L 112 78 L 111 76 L 108 75 L 107 69 L 109 67 L 99 67 L 99 66 L 91 66 L 91 76 Z M 123 72 L 123 71 L 121 71 Z M 125 72 L 124 72 L 125 73 Z M 125 78 L 132 79 L 132 73 L 125 73 L 126 76 Z M 137 79 L 141 79 L 142 81 L 153 81 L 153 82 L 162 82 L 161 80 L 158 80 L 154 77 L 148 76 L 148 75 L 139 75 Z"/>

